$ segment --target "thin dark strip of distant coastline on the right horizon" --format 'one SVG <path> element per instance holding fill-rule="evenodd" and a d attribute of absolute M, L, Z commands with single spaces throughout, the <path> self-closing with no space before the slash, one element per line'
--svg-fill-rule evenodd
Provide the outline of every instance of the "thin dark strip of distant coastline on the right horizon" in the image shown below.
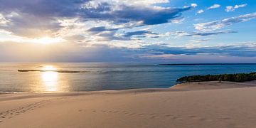
<path fill-rule="evenodd" d="M 159 65 L 256 65 L 256 63 L 166 63 Z"/>

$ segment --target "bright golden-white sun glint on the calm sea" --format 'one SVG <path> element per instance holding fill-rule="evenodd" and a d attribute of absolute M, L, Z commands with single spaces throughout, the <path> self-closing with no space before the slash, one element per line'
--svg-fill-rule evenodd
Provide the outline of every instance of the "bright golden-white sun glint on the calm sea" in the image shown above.
<path fill-rule="evenodd" d="M 43 66 L 42 81 L 46 92 L 58 91 L 58 73 L 52 65 Z"/>

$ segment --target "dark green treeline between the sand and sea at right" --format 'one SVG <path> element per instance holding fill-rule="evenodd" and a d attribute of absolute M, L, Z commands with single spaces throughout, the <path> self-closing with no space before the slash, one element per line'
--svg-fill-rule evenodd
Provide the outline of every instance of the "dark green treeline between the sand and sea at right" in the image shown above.
<path fill-rule="evenodd" d="M 256 73 L 238 73 L 223 75 L 192 75 L 179 78 L 177 82 L 231 81 L 245 82 L 256 80 Z"/>

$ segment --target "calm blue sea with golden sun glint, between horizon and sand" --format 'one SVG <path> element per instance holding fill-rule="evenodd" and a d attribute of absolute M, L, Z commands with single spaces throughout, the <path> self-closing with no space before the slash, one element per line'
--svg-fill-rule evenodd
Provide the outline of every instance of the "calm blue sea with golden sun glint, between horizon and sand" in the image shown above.
<path fill-rule="evenodd" d="M 256 65 L 0 63 L 0 92 L 164 88 L 175 85 L 176 79 L 185 75 L 250 72 L 256 72 Z"/>

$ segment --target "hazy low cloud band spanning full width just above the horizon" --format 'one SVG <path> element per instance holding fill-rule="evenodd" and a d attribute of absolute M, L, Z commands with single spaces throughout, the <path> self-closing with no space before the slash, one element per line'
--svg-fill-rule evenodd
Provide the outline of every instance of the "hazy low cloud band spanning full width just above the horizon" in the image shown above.
<path fill-rule="evenodd" d="M 138 62 L 154 60 L 180 60 L 185 62 L 193 57 L 196 61 L 206 62 L 225 57 L 256 60 L 256 43 L 236 43 L 231 46 L 212 47 L 170 47 L 146 45 L 141 48 L 113 47 L 110 45 L 75 46 L 73 43 L 55 43 L 54 45 L 39 45 L 36 43 L 0 43 L 1 62 Z M 17 51 L 17 53 L 13 52 Z M 201 56 L 204 56 L 204 59 Z M 236 60 L 241 60 L 236 59 Z M 245 59 L 245 60 L 246 60 Z M 213 60 L 214 61 L 214 60 Z"/>

